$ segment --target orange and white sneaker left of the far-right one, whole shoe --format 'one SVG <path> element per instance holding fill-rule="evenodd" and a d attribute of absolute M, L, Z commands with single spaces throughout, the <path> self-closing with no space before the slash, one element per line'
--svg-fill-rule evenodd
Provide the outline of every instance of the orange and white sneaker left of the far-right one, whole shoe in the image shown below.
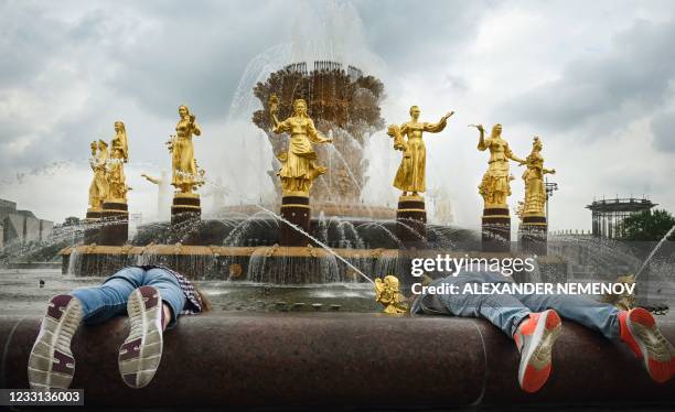
<path fill-rule="evenodd" d="M 561 330 L 560 316 L 556 311 L 548 310 L 531 313 L 513 335 L 521 351 L 518 383 L 525 392 L 538 391 L 548 380 L 550 354 Z"/>

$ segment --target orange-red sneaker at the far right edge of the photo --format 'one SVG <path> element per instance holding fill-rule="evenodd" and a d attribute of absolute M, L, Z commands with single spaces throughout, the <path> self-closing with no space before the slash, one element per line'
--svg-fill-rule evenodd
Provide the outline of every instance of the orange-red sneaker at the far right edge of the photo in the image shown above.
<path fill-rule="evenodd" d="M 635 307 L 619 313 L 621 340 L 623 340 L 639 359 L 650 377 L 658 383 L 673 377 L 675 365 L 675 348 L 663 336 L 652 314 Z"/>

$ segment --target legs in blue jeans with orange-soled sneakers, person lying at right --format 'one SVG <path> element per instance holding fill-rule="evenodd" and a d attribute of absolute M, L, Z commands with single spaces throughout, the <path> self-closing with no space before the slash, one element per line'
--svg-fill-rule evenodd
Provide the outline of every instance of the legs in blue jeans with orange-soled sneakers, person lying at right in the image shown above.
<path fill-rule="evenodd" d="M 500 273 L 480 271 L 438 279 L 431 285 L 446 283 L 462 292 L 465 285 L 510 282 Z M 521 351 L 518 382 L 528 392 L 539 390 L 548 379 L 553 345 L 561 333 L 560 317 L 628 344 L 657 382 L 671 379 L 675 369 L 675 348 L 643 308 L 619 311 L 578 295 L 457 293 L 420 296 L 410 312 L 490 321 L 515 340 Z"/>

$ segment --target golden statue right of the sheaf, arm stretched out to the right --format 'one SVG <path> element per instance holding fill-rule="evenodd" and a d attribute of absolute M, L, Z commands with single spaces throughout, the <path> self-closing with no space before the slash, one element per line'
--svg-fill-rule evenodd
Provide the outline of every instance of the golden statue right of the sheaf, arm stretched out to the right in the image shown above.
<path fill-rule="evenodd" d="M 403 196 L 413 192 L 417 196 L 418 192 L 426 191 L 425 173 L 427 164 L 427 149 L 422 140 L 422 132 L 438 133 L 446 128 L 448 118 L 454 115 L 451 111 L 443 116 L 438 123 L 419 122 L 419 107 L 410 107 L 410 121 L 400 127 L 392 124 L 387 129 L 387 134 L 394 138 L 394 149 L 403 151 L 403 159 L 394 178 L 394 187 L 403 191 Z M 408 140 L 404 140 L 404 135 Z"/>

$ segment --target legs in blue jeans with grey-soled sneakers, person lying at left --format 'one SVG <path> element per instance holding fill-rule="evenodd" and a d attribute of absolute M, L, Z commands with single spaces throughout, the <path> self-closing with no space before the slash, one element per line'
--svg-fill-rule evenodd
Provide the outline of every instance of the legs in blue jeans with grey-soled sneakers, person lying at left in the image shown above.
<path fill-rule="evenodd" d="M 131 327 L 119 348 L 119 371 L 127 386 L 144 387 L 159 367 L 163 330 L 175 325 L 184 305 L 178 279 L 163 269 L 125 268 L 99 286 L 52 297 L 29 358 L 31 388 L 68 388 L 75 375 L 71 339 L 81 323 L 125 313 Z"/>

